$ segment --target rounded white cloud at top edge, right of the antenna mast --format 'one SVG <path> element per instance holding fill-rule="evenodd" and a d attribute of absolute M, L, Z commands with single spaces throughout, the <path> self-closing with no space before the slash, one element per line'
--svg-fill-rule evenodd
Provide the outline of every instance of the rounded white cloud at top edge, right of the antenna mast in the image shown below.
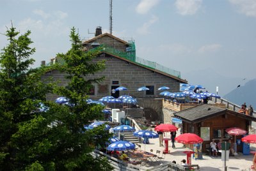
<path fill-rule="evenodd" d="M 201 7 L 202 0 L 176 0 L 175 6 L 181 15 L 193 15 Z"/>

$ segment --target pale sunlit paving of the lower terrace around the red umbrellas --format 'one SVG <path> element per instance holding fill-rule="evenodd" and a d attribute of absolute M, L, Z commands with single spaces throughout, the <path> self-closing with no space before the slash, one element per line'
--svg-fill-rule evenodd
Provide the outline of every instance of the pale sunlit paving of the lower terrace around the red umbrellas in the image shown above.
<path fill-rule="evenodd" d="M 178 131 L 179 133 L 179 131 Z M 170 133 L 168 133 L 170 134 Z M 155 154 L 157 150 L 162 151 L 164 147 L 159 147 L 159 139 L 149 139 L 150 144 L 141 144 L 141 149 L 150 151 L 153 149 L 153 153 Z M 177 164 L 180 164 L 182 159 L 186 159 L 186 154 L 183 151 L 188 150 L 187 148 L 183 147 L 183 144 L 175 143 L 176 149 L 172 149 L 172 142 L 169 141 L 168 149 L 170 150 L 170 154 L 166 154 L 164 161 L 173 161 L 175 160 Z M 252 150 L 255 149 L 255 144 L 250 144 L 250 148 Z M 236 156 L 230 156 L 229 161 L 227 161 L 227 170 L 249 170 L 250 166 L 252 165 L 253 154 L 250 155 L 243 155 L 243 153 L 239 153 Z M 200 170 L 224 170 L 223 161 L 221 161 L 221 156 L 217 158 L 213 158 L 208 155 L 203 155 L 202 160 L 195 160 L 192 158 L 191 160 L 192 165 L 199 165 Z"/>

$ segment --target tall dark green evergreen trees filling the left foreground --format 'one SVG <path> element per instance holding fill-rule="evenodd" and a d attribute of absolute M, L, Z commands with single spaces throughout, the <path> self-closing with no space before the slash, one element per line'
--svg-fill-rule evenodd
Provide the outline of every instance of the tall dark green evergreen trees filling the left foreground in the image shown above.
<path fill-rule="evenodd" d="M 104 126 L 84 130 L 84 124 L 102 117 L 102 107 L 86 103 L 92 83 L 102 78 L 85 77 L 102 70 L 104 63 L 90 63 L 95 54 L 83 52 L 73 28 L 72 47 L 58 55 L 65 64 L 32 69 L 35 61 L 29 56 L 35 48 L 29 47 L 29 34 L 17 38 L 19 32 L 8 29 L 9 43 L 0 56 L 0 170 L 111 170 L 106 158 L 91 155 L 95 144 L 111 135 Z M 42 80 L 56 69 L 67 73 L 67 87 L 57 87 L 51 78 Z M 72 105 L 46 101 L 47 93 L 66 96 Z M 42 104 L 44 112 L 38 110 Z"/>

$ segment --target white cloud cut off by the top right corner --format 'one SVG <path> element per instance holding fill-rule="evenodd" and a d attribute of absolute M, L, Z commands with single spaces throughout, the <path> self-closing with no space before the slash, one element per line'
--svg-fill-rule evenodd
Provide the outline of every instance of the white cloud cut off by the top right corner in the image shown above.
<path fill-rule="evenodd" d="M 237 7 L 239 13 L 246 16 L 256 17 L 256 1 L 255 0 L 229 0 L 231 4 Z"/>

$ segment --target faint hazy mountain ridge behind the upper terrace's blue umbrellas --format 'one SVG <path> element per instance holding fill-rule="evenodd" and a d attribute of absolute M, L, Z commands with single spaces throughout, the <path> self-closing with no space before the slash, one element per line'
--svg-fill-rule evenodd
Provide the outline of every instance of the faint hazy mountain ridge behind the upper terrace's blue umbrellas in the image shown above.
<path fill-rule="evenodd" d="M 223 97 L 236 89 L 237 85 L 243 85 L 245 80 L 243 78 L 231 78 L 220 75 L 213 70 L 198 70 L 190 71 L 189 73 L 182 73 L 182 78 L 188 80 L 189 84 L 200 84 L 205 87 L 210 93 L 216 93 L 216 86 L 219 87 L 218 94 Z"/>

